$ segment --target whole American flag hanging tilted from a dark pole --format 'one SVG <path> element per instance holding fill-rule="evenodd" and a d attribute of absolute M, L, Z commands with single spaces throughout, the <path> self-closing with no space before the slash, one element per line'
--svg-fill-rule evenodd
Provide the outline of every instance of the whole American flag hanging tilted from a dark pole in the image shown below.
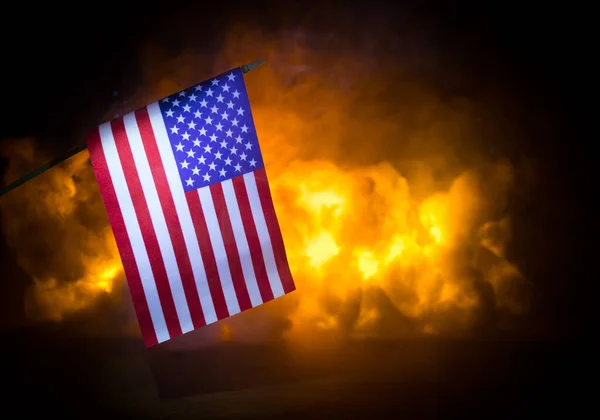
<path fill-rule="evenodd" d="M 240 68 L 100 125 L 88 149 L 146 346 L 295 289 Z"/>

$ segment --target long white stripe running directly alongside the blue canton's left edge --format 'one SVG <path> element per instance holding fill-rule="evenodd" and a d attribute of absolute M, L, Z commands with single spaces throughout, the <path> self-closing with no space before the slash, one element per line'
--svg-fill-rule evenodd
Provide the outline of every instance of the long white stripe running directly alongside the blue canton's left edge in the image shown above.
<path fill-rule="evenodd" d="M 171 195 L 173 196 L 173 201 L 175 203 L 175 210 L 177 211 L 179 223 L 181 224 L 183 239 L 190 258 L 190 263 L 192 264 L 192 272 L 194 273 L 194 280 L 196 281 L 200 304 L 202 305 L 202 311 L 204 312 L 204 319 L 207 324 L 211 324 L 217 321 L 217 313 L 215 312 L 215 305 L 210 294 L 210 289 L 208 288 L 208 281 L 206 279 L 206 272 L 204 271 L 204 263 L 202 261 L 202 255 L 200 254 L 196 230 L 194 229 L 190 208 L 188 207 L 185 198 L 183 185 L 179 178 L 177 162 L 175 161 L 173 149 L 169 142 L 167 128 L 165 127 L 160 107 L 157 102 L 148 105 L 146 108 L 148 109 L 152 131 L 156 138 L 158 152 L 163 167 L 165 168 L 169 189 L 171 190 Z"/>

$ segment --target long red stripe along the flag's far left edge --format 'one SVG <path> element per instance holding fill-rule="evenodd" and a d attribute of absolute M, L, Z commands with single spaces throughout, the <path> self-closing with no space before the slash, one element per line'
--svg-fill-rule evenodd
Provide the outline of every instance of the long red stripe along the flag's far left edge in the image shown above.
<path fill-rule="evenodd" d="M 144 344 L 146 347 L 154 346 L 155 344 L 158 344 L 158 339 L 156 338 L 156 332 L 154 330 L 152 318 L 150 317 L 148 302 L 146 301 L 146 296 L 144 294 L 144 287 L 142 286 L 140 273 L 135 262 L 133 249 L 131 247 L 131 242 L 129 241 L 125 221 L 123 220 L 123 214 L 121 213 L 117 194 L 115 193 L 104 151 L 102 150 L 100 130 L 98 128 L 88 133 L 87 143 L 90 152 L 90 160 L 92 161 L 94 173 L 96 174 L 96 179 L 100 186 L 102 200 L 104 201 L 104 206 L 108 213 L 108 220 L 110 221 L 117 242 L 117 248 L 121 255 L 125 277 L 127 278 L 127 284 L 129 285 L 129 290 L 131 292 L 131 298 L 142 337 L 144 338 Z"/>

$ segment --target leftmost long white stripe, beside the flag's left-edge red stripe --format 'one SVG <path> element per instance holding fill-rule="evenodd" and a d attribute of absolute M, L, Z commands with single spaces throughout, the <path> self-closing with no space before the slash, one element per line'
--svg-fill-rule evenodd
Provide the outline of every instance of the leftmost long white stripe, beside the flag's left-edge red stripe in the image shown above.
<path fill-rule="evenodd" d="M 117 148 L 115 145 L 115 138 L 113 137 L 110 123 L 104 123 L 99 127 L 100 140 L 102 149 L 104 150 L 104 157 L 106 158 L 106 164 L 108 166 L 108 172 L 112 180 L 115 194 L 117 195 L 117 201 L 123 215 L 125 222 L 125 228 L 127 229 L 127 236 L 131 242 L 131 249 L 135 258 L 140 278 L 142 280 L 142 288 L 144 289 L 144 295 L 146 296 L 146 302 L 148 303 L 148 310 L 150 312 L 150 318 L 152 319 L 152 325 L 156 332 L 156 338 L 159 343 L 166 341 L 170 338 L 167 324 L 165 322 L 165 316 L 162 312 L 162 306 L 158 298 L 158 291 L 156 289 L 156 282 L 154 281 L 154 274 L 150 266 L 150 260 L 148 259 L 148 253 L 146 246 L 144 245 L 144 239 L 142 237 L 142 231 L 138 223 L 133 202 L 131 201 L 131 195 L 127 188 L 125 181 L 125 174 L 123 173 L 123 167 L 119 155 L 117 154 Z"/>

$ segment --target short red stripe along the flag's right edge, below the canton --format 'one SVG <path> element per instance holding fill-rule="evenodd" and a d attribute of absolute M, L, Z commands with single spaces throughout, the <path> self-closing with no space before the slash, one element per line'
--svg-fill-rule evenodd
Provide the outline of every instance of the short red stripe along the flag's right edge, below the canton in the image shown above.
<path fill-rule="evenodd" d="M 275 214 L 275 207 L 273 206 L 273 199 L 271 198 L 269 181 L 267 180 L 265 169 L 261 168 L 254 171 L 254 178 L 256 179 L 258 197 L 260 198 L 265 221 L 267 222 L 269 236 L 271 237 L 271 244 L 273 246 L 273 254 L 275 254 L 275 263 L 277 264 L 279 278 L 281 279 L 284 292 L 290 293 L 296 290 L 296 285 L 294 284 L 294 279 L 292 278 L 290 266 L 285 254 L 285 245 L 283 244 L 281 229 L 279 228 L 279 222 L 277 221 L 277 215 Z"/>

